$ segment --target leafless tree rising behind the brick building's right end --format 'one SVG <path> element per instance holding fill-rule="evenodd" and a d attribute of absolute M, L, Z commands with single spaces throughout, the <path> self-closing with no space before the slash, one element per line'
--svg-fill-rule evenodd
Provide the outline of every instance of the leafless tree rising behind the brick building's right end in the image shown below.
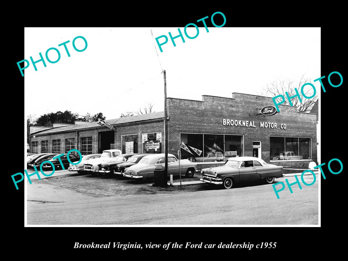
<path fill-rule="evenodd" d="M 296 96 L 291 99 L 292 105 L 297 107 L 297 111 L 301 111 L 301 112 L 310 111 L 318 99 L 318 94 L 316 93 L 315 96 L 310 99 L 302 95 L 302 92 L 301 92 L 302 85 L 305 84 L 306 82 L 309 82 L 308 79 L 303 79 L 303 77 L 304 75 L 302 75 L 298 84 L 291 80 L 275 80 L 271 82 L 270 84 L 267 84 L 267 86 L 262 89 L 262 92 L 260 93 L 260 95 L 275 97 L 277 95 L 282 94 L 285 97 L 285 101 L 282 104 L 290 105 L 285 92 L 288 93 L 289 97 L 294 96 L 296 95 L 296 92 L 295 92 L 295 88 L 296 88 L 300 94 L 302 102 L 300 102 L 298 96 Z M 313 95 L 313 88 L 311 88 L 310 86 L 306 86 L 303 88 L 303 93 L 307 97 L 310 97 Z M 279 103 L 280 101 L 282 101 L 282 97 L 278 97 L 276 101 Z"/>

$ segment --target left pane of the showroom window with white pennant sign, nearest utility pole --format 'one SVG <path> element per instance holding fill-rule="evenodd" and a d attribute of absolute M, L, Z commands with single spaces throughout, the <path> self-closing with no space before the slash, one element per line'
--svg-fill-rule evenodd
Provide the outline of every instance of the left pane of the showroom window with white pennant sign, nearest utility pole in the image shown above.
<path fill-rule="evenodd" d="M 181 133 L 180 151 L 182 159 L 203 162 L 203 134 Z"/>

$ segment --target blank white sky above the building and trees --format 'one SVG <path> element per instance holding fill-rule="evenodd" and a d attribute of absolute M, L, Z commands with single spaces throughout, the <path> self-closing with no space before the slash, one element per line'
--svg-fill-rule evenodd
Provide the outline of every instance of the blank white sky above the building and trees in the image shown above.
<path fill-rule="evenodd" d="M 150 29 L 152 29 L 153 37 Z M 199 27 L 199 35 L 173 37 L 177 28 L 25 28 L 24 58 L 45 57 L 60 50 L 61 59 L 25 69 L 25 114 L 39 117 L 70 110 L 80 115 L 102 112 L 106 119 L 155 103 L 164 110 L 162 68 L 167 72 L 167 97 L 201 100 L 201 95 L 232 97 L 232 92 L 258 94 L 276 79 L 298 81 L 321 77 L 320 28 Z M 183 32 L 183 28 L 181 28 Z M 161 53 L 154 38 L 167 35 Z M 194 27 L 188 34 L 196 34 Z M 72 40 L 86 38 L 76 52 Z M 58 44 L 70 40 L 67 47 Z M 160 42 L 164 39 L 160 39 Z M 82 39 L 76 41 L 79 49 Z M 156 54 L 157 48 L 158 56 Z M 49 58 L 56 60 L 55 51 Z M 161 63 L 161 65 L 160 65 Z M 295 87 L 295 86 L 294 86 Z"/>

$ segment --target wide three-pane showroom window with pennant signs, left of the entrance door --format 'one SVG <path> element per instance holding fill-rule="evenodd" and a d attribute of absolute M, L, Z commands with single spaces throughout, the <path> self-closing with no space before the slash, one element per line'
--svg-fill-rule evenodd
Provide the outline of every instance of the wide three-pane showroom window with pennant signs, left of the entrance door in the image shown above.
<path fill-rule="evenodd" d="M 224 162 L 244 156 L 243 135 L 181 133 L 181 158 L 192 162 Z"/>

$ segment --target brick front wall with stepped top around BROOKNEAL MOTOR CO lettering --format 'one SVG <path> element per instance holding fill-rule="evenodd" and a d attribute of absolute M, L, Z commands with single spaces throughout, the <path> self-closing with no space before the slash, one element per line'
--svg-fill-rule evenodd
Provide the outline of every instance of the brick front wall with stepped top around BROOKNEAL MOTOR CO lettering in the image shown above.
<path fill-rule="evenodd" d="M 312 159 L 317 161 L 316 115 L 298 113 L 296 107 L 280 105 L 280 113 L 258 114 L 258 109 L 272 105 L 272 99 L 234 93 L 233 98 L 203 95 L 202 101 L 168 98 L 168 152 L 176 155 L 180 133 L 212 133 L 244 135 L 244 156 L 253 156 L 253 141 L 261 141 L 262 159 L 270 162 L 270 136 L 311 137 Z M 223 125 L 223 119 L 254 121 L 254 127 Z M 277 128 L 261 128 L 260 121 L 276 122 Z M 286 124 L 281 129 L 280 124 Z M 283 166 L 300 167 L 310 161 L 282 162 Z M 280 165 L 279 163 L 275 163 Z M 209 165 L 211 166 L 211 165 Z"/>

